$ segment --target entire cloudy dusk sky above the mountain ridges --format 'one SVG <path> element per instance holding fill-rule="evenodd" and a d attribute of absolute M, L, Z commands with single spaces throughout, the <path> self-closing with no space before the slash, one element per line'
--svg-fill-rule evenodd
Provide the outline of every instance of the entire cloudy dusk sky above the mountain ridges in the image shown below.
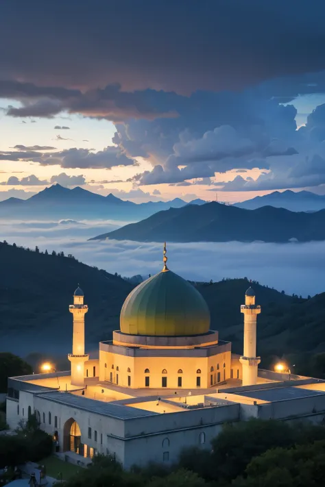
<path fill-rule="evenodd" d="M 0 200 L 56 183 L 324 194 L 324 16 L 324 0 L 2 1 Z"/>

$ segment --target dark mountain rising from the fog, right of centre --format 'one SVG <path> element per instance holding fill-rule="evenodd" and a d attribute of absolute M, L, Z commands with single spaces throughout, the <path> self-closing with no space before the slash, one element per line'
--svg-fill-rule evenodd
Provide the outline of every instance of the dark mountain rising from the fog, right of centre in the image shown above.
<path fill-rule="evenodd" d="M 309 242 L 325 240 L 325 210 L 290 212 L 264 206 L 244 210 L 215 201 L 158 212 L 91 240 L 137 242 Z"/>

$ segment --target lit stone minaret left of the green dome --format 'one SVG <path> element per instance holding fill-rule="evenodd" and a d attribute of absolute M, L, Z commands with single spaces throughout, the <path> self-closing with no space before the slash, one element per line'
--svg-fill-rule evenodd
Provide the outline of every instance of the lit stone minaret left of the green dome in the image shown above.
<path fill-rule="evenodd" d="M 73 304 L 69 306 L 73 314 L 72 353 L 68 358 L 71 362 L 71 384 L 73 386 L 84 385 L 84 362 L 89 360 L 89 355 L 84 353 L 84 315 L 88 306 L 84 304 L 84 292 L 77 287 L 73 293 Z"/>

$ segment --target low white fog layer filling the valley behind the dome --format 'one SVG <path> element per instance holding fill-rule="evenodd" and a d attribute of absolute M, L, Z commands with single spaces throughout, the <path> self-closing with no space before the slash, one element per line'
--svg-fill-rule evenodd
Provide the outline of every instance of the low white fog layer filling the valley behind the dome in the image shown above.
<path fill-rule="evenodd" d="M 82 225 L 82 223 L 84 225 Z M 107 240 L 86 241 L 112 229 L 117 222 L 56 223 L 1 222 L 0 240 L 41 250 L 63 250 L 99 269 L 125 276 L 149 275 L 163 265 L 163 244 Z M 224 277 L 248 277 L 288 294 L 314 295 L 325 291 L 324 242 L 306 244 L 190 243 L 168 244 L 169 268 L 186 279 L 219 281 Z"/>

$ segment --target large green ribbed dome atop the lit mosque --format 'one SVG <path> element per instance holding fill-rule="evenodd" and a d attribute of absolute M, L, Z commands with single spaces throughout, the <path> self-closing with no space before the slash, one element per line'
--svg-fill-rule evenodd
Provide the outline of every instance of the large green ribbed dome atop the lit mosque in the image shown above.
<path fill-rule="evenodd" d="M 210 312 L 192 284 L 166 269 L 130 292 L 120 327 L 130 335 L 201 335 L 210 329 Z"/>

